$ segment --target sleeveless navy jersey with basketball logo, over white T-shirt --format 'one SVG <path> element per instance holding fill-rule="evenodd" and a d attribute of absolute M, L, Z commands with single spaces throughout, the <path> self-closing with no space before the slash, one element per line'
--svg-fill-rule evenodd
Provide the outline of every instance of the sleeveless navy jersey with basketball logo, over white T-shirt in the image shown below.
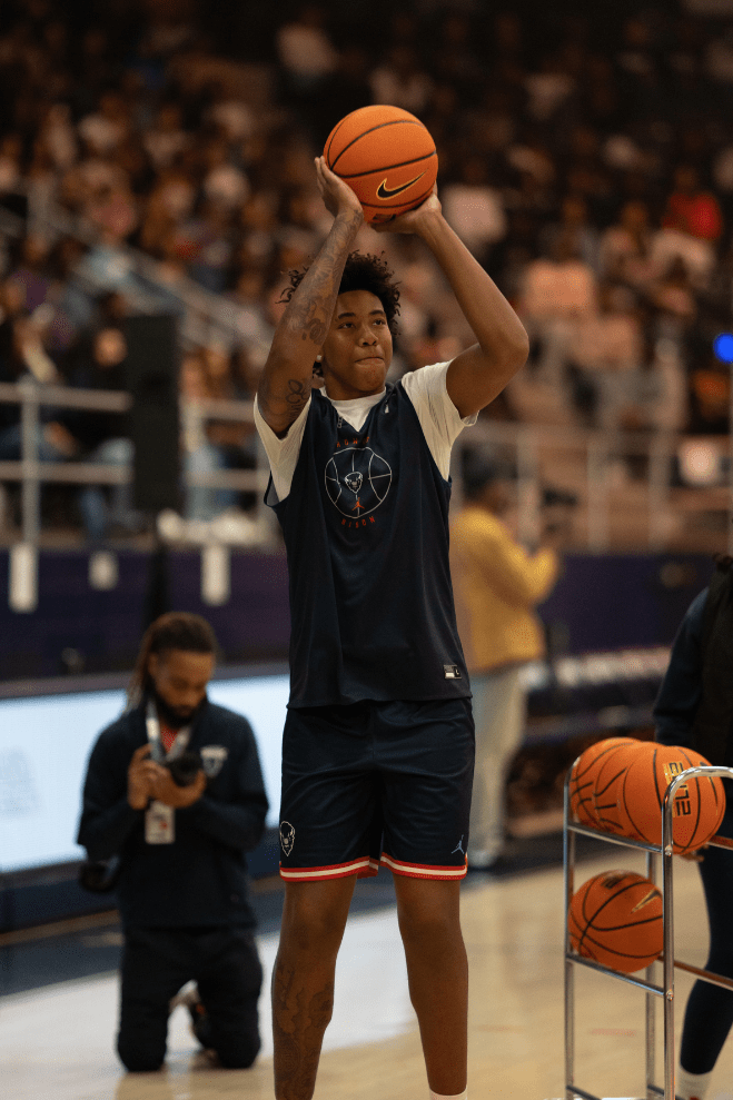
<path fill-rule="evenodd" d="M 313 392 L 290 493 L 273 504 L 290 577 L 290 706 L 470 695 L 449 498 L 402 384 L 358 432 Z"/>

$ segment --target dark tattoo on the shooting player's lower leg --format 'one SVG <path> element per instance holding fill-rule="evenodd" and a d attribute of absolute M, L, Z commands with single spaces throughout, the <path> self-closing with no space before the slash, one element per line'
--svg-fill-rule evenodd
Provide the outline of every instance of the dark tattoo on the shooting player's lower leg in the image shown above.
<path fill-rule="evenodd" d="M 276 961 L 273 972 L 275 1093 L 308 1100 L 316 1084 L 324 1032 L 334 1007 L 334 982 L 308 997 L 296 971 Z"/>

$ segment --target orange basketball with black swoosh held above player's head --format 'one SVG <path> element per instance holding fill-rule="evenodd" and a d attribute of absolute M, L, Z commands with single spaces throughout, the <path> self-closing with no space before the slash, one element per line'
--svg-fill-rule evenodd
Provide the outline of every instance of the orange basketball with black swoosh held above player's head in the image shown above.
<path fill-rule="evenodd" d="M 369 222 L 419 206 L 438 175 L 435 141 L 399 107 L 360 107 L 337 122 L 324 147 L 326 163 L 356 192 Z"/>

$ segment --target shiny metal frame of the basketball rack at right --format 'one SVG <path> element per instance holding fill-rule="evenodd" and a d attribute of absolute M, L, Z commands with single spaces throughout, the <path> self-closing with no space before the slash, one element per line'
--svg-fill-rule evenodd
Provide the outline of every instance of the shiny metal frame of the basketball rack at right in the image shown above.
<path fill-rule="evenodd" d="M 572 771 L 572 770 L 571 770 Z M 689 780 L 697 776 L 715 776 L 733 779 L 731 767 L 689 767 L 670 783 L 664 795 L 662 806 L 662 844 L 646 844 L 643 841 L 631 840 L 627 836 L 618 836 L 615 833 L 602 832 L 581 825 L 572 820 L 569 811 L 569 777 L 565 780 L 565 807 L 563 824 L 563 864 L 565 878 L 565 1097 L 573 1100 L 574 1097 L 582 1097 L 583 1100 L 601 1100 L 592 1092 L 586 1092 L 575 1084 L 575 973 L 576 965 L 586 967 L 601 974 L 615 978 L 617 981 L 626 982 L 643 989 L 646 997 L 646 1097 L 653 1100 L 663 1097 L 664 1100 L 674 1100 L 674 970 L 684 970 L 694 974 L 702 981 L 711 982 L 713 985 L 721 985 L 723 989 L 733 990 L 733 980 L 724 978 L 722 974 L 714 974 L 711 971 L 702 970 L 686 962 L 677 962 L 674 958 L 674 913 L 673 913 L 673 874 L 672 874 L 672 811 L 674 796 L 678 786 Z M 654 982 L 653 962 L 646 968 L 645 977 L 637 978 L 634 974 L 625 974 L 608 967 L 602 967 L 592 959 L 585 959 L 571 949 L 568 915 L 571 901 L 574 893 L 575 881 L 575 836 L 593 836 L 596 840 L 606 841 L 608 844 L 616 844 L 622 848 L 634 848 L 646 853 L 646 878 L 656 884 L 657 856 L 662 856 L 662 924 L 664 934 L 664 950 L 661 958 L 663 965 L 662 984 Z M 710 841 L 711 848 L 733 849 L 733 840 L 726 836 L 716 835 Z M 657 960 L 658 961 L 658 960 Z M 656 1029 L 654 1013 L 654 998 L 661 997 L 664 1000 L 664 1088 L 654 1083 L 655 1056 L 656 1056 Z"/>

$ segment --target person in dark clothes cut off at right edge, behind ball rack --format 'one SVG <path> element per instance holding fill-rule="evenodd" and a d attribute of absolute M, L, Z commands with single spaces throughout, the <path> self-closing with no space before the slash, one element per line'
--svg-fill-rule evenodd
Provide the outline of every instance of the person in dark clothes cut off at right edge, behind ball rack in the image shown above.
<path fill-rule="evenodd" d="M 694 749 L 711 764 L 733 765 L 733 571 L 721 558 L 711 584 L 692 602 L 672 647 L 654 706 L 656 740 Z M 733 838 L 733 792 L 723 781 L 726 811 L 719 833 Z M 733 979 L 733 853 L 719 848 L 696 855 L 710 920 L 705 969 Z M 733 1024 L 733 992 L 697 981 L 685 1010 L 680 1100 L 703 1100 Z"/>

